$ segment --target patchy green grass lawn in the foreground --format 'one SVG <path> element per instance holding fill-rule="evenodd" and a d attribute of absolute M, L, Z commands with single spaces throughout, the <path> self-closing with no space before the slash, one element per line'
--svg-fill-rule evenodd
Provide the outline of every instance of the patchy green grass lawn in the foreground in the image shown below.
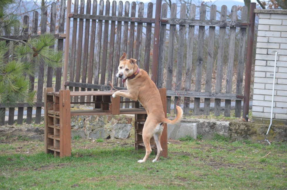
<path fill-rule="evenodd" d="M 170 140 L 168 158 L 139 164 L 133 139 L 72 140 L 65 158 L 43 142 L 1 141 L 0 189 L 287 189 L 287 143 Z"/>

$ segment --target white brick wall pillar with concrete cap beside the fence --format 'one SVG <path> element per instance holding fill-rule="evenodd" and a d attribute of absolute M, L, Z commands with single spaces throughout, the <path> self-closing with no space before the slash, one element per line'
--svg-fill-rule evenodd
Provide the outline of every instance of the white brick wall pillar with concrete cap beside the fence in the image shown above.
<path fill-rule="evenodd" d="M 287 11 L 256 11 L 259 13 L 259 26 L 252 117 L 270 118 L 277 52 L 273 119 L 287 120 Z"/>

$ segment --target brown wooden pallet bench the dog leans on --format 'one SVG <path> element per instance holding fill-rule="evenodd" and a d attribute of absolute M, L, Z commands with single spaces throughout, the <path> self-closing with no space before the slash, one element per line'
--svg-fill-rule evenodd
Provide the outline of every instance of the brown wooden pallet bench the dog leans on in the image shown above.
<path fill-rule="evenodd" d="M 159 89 L 166 114 L 166 89 Z M 128 92 L 128 91 L 124 91 Z M 53 92 L 53 88 L 45 88 L 45 153 L 55 156 L 71 156 L 71 116 L 88 115 L 119 115 L 135 114 L 135 149 L 143 149 L 142 130 L 146 121 L 146 110 L 135 102 L 135 108 L 120 108 L 120 97 L 112 98 L 110 91 L 78 91 L 60 90 Z M 72 96 L 92 96 L 91 102 L 77 102 L 75 104 L 93 104 L 90 110 L 71 110 Z M 156 145 L 151 140 L 151 147 L 156 152 Z M 165 124 L 161 136 L 162 156 L 167 157 L 167 125 Z"/>

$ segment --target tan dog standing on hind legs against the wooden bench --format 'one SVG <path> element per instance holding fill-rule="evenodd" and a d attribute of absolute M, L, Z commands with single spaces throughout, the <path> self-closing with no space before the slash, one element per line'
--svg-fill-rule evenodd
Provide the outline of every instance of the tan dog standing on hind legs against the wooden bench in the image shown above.
<path fill-rule="evenodd" d="M 143 160 L 139 160 L 138 162 L 146 162 L 146 159 L 151 154 L 150 139 L 152 137 L 156 142 L 158 150 L 156 158 L 153 160 L 153 162 L 156 162 L 159 160 L 162 152 L 161 133 L 163 131 L 163 123 L 174 124 L 180 122 L 183 116 L 183 111 L 180 106 L 176 106 L 178 115 L 175 120 L 165 118 L 161 96 L 156 85 L 148 76 L 146 71 L 139 69 L 138 65 L 136 65 L 135 59 L 126 59 L 126 53 L 121 56 L 116 76 L 123 79 L 123 82 L 126 81 L 126 87 L 129 93 L 117 91 L 112 95 L 113 98 L 123 96 L 125 98 L 139 101 L 146 109 L 148 115 L 143 128 L 143 140 L 146 147 L 146 155 Z"/>

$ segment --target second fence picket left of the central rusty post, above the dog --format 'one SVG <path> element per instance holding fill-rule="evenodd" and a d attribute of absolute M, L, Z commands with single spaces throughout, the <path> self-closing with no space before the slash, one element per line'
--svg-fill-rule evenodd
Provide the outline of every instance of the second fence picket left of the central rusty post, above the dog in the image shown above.
<path fill-rule="evenodd" d="M 144 3 L 139 3 L 138 17 L 144 16 Z M 136 64 L 141 67 L 141 42 L 143 35 L 143 23 L 138 23 L 136 27 Z"/>

